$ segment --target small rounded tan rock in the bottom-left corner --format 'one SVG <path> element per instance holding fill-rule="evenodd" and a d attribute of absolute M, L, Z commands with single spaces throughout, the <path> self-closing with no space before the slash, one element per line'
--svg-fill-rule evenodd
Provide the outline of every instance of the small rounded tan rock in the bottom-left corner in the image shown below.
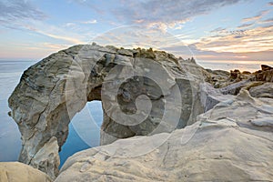
<path fill-rule="evenodd" d="M 1 182 L 51 182 L 45 173 L 18 162 L 0 162 Z"/>

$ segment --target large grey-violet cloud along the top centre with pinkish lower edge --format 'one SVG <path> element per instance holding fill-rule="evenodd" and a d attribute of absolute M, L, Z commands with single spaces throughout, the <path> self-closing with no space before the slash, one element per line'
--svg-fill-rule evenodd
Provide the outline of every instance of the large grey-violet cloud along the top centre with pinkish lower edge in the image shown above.
<path fill-rule="evenodd" d="M 96 7 L 93 1 L 74 1 L 93 8 L 99 15 L 111 15 L 126 25 L 151 25 L 164 29 L 245 0 L 114 0 L 108 3 L 110 5 L 100 3 Z"/>

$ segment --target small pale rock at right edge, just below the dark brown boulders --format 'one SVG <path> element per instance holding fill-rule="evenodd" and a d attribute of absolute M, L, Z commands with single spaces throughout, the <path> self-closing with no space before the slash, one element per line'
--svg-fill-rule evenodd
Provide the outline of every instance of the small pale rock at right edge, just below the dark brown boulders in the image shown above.
<path fill-rule="evenodd" d="M 254 97 L 273 98 L 273 83 L 265 83 L 261 86 L 251 87 L 249 93 Z"/>

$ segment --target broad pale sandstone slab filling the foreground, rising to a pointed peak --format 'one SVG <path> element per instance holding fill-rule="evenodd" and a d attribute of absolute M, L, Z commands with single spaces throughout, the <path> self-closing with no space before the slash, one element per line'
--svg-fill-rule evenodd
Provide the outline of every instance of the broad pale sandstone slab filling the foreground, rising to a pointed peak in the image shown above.
<path fill-rule="evenodd" d="M 192 126 L 76 153 L 56 182 L 272 181 L 272 118 L 273 99 L 243 89 Z"/>

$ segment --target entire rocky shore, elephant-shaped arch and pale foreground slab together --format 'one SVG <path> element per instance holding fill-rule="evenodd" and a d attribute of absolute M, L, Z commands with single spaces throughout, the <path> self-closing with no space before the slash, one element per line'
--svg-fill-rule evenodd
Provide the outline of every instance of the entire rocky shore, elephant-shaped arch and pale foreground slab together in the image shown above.
<path fill-rule="evenodd" d="M 228 73 L 151 48 L 76 45 L 25 71 L 9 115 L 19 161 L 44 181 L 273 181 L 272 98 L 270 66 Z M 92 100 L 104 106 L 102 146 L 58 171 L 68 124 Z"/>

